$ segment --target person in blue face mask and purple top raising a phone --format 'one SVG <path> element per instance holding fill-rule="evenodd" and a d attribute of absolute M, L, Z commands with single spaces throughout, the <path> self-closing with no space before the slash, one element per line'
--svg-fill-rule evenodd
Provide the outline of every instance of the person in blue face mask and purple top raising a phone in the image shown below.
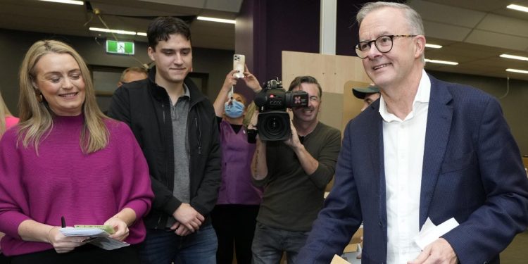
<path fill-rule="evenodd" d="M 239 80 L 234 73 L 236 70 L 227 74 L 213 103 L 220 130 L 222 184 L 211 217 L 218 237 L 218 263 L 232 263 L 233 245 L 237 248 L 237 263 L 251 263 L 251 242 L 262 196 L 262 190 L 251 184 L 251 158 L 256 145 L 248 130 L 256 121 L 248 127 L 243 125 L 246 99 L 231 92 Z M 260 91 L 258 80 L 247 68 L 240 79 L 254 92 Z"/>

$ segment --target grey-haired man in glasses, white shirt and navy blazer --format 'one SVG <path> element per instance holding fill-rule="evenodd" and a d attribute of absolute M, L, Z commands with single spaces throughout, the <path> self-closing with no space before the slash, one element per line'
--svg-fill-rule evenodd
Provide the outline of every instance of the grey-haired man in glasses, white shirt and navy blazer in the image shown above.
<path fill-rule="evenodd" d="M 363 222 L 363 263 L 499 263 L 528 222 L 528 179 L 493 97 L 423 70 L 420 15 L 358 13 L 356 52 L 381 99 L 348 123 L 334 189 L 297 263 L 329 263 Z M 460 224 L 420 249 L 429 218 Z"/>

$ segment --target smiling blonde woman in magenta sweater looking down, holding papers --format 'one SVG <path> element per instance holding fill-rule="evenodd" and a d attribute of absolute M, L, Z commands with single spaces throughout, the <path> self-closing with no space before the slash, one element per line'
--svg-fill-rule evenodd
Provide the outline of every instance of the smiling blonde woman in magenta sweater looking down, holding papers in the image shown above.
<path fill-rule="evenodd" d="M 68 226 L 112 225 L 144 239 L 153 194 L 130 128 L 96 105 L 87 65 L 70 46 L 35 42 L 20 67 L 20 122 L 0 140 L 1 248 L 12 263 L 137 263 L 134 246 L 106 251 Z"/>

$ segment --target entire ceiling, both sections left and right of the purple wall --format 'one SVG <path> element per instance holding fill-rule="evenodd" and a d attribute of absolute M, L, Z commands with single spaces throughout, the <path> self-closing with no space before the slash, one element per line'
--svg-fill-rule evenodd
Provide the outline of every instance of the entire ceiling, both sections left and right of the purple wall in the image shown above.
<path fill-rule="evenodd" d="M 279 0 L 277 0 L 279 1 Z M 292 0 L 289 0 L 292 1 Z M 302 3 L 303 0 L 297 0 Z M 91 0 L 92 9 L 112 29 L 146 32 L 151 18 L 160 15 L 211 16 L 234 19 L 242 0 Z M 506 68 L 528 70 L 528 61 L 498 57 L 528 57 L 528 13 L 506 8 L 528 6 L 528 0 L 409 0 L 422 15 L 427 42 L 442 49 L 427 49 L 426 58 L 459 64 L 427 63 L 426 69 L 452 73 L 528 80 L 528 75 L 507 73 Z M 0 28 L 108 37 L 88 27 L 104 27 L 86 5 L 54 4 L 36 0 L 0 0 Z M 234 25 L 194 20 L 193 46 L 234 50 Z M 121 37 L 121 36 L 119 36 Z M 123 37 L 146 42 L 146 37 Z"/>

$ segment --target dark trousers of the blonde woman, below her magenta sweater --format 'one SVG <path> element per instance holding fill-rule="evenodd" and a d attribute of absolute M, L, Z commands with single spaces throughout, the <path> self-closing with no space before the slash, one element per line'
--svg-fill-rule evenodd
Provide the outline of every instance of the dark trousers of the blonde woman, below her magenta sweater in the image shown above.
<path fill-rule="evenodd" d="M 135 246 L 121 249 L 104 250 L 90 244 L 77 247 L 68 253 L 56 253 L 55 249 L 28 253 L 11 258 L 11 264 L 92 264 L 92 263 L 134 263 L 139 264 L 139 255 Z"/>

